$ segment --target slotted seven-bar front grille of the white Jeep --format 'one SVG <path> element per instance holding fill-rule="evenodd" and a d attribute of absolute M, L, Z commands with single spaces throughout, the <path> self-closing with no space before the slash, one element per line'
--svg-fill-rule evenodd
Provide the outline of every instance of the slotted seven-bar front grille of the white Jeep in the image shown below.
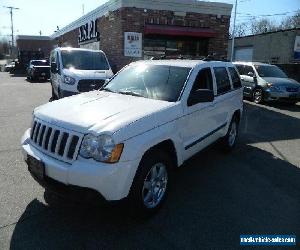
<path fill-rule="evenodd" d="M 66 163 L 76 160 L 83 134 L 68 131 L 37 118 L 34 119 L 32 126 L 30 138 L 34 147 Z"/>

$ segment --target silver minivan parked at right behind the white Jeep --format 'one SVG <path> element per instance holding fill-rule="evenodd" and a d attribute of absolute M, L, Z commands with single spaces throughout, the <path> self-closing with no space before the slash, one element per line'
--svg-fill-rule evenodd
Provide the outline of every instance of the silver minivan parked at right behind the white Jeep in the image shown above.
<path fill-rule="evenodd" d="M 244 97 L 255 103 L 263 101 L 300 101 L 300 83 L 288 78 L 277 66 L 256 62 L 234 62 L 238 69 Z"/>

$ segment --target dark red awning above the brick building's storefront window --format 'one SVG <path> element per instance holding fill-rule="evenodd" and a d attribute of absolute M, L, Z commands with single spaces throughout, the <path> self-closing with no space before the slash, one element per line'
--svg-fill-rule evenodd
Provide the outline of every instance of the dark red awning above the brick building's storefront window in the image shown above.
<path fill-rule="evenodd" d="M 215 37 L 216 32 L 210 28 L 194 28 L 173 25 L 146 24 L 145 35 Z"/>

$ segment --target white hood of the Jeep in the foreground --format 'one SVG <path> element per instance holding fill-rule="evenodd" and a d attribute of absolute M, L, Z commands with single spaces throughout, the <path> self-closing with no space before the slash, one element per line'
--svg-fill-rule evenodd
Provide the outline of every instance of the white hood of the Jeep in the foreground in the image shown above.
<path fill-rule="evenodd" d="M 50 124 L 80 133 L 109 133 L 133 124 L 143 117 L 159 113 L 176 103 L 134 97 L 104 91 L 91 91 L 50 102 L 35 109 L 34 115 Z M 171 114 L 172 112 L 169 112 Z M 168 114 L 168 112 L 166 112 Z M 165 115 L 162 122 L 168 120 Z M 170 119 L 172 119 L 170 117 Z M 157 126 L 155 119 L 150 124 Z M 148 125 L 148 124 L 146 124 Z M 136 133 L 148 129 L 142 126 Z M 132 136 L 132 135 L 131 135 Z"/>

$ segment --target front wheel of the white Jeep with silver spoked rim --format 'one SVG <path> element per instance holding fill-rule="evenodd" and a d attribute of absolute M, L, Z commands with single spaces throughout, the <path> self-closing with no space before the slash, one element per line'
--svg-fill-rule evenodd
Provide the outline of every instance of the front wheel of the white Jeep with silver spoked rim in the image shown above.
<path fill-rule="evenodd" d="M 146 153 L 128 196 L 133 211 L 147 216 L 159 210 L 169 189 L 171 162 L 169 156 L 163 152 Z"/>

